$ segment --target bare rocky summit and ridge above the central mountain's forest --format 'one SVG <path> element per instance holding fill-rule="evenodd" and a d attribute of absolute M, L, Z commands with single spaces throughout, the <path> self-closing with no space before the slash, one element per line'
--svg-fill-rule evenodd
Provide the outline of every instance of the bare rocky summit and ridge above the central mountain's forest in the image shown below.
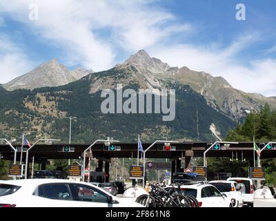
<path fill-rule="evenodd" d="M 223 77 L 213 77 L 208 73 L 190 70 L 185 66 L 170 67 L 161 60 L 150 57 L 145 50 L 139 50 L 112 70 L 128 73 L 125 79 L 120 79 L 120 82 L 123 81 L 126 85 L 130 81 L 135 81 L 140 88 L 162 88 L 165 87 L 164 83 L 172 81 L 189 85 L 204 96 L 209 106 L 235 120 L 245 117 L 251 111 L 260 111 L 266 102 L 271 108 L 276 108 L 275 97 L 244 93 L 242 90 L 233 88 Z M 91 84 L 92 93 L 104 88 L 114 88 L 116 80 L 103 75 L 92 75 L 94 78 Z"/>

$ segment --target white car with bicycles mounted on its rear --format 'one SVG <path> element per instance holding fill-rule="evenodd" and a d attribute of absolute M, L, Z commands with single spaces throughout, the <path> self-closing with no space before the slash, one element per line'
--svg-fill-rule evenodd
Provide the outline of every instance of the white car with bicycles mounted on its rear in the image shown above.
<path fill-rule="evenodd" d="M 220 193 L 211 184 L 193 184 L 181 186 L 185 195 L 193 195 L 199 202 L 199 207 L 232 207 L 231 199 Z"/>

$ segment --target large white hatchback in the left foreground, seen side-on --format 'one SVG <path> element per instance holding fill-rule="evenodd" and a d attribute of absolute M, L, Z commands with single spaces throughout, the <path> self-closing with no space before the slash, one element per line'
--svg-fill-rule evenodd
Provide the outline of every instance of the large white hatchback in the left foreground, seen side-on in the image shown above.
<path fill-rule="evenodd" d="M 74 180 L 28 179 L 0 182 L 0 207 L 141 207 L 103 189 Z M 143 206 L 142 206 L 143 207 Z"/>

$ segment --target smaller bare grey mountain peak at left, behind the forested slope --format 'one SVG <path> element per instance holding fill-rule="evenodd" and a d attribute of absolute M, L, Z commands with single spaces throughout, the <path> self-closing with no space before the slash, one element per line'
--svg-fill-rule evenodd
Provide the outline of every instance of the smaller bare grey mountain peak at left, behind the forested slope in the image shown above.
<path fill-rule="evenodd" d="M 3 84 L 3 88 L 6 88 L 6 90 L 19 88 L 32 90 L 46 86 L 61 86 L 77 81 L 92 72 L 92 70 L 84 70 L 83 68 L 68 70 L 63 64 L 59 64 L 57 59 L 52 59 L 34 68 L 29 73 L 17 77 L 7 84 Z"/>

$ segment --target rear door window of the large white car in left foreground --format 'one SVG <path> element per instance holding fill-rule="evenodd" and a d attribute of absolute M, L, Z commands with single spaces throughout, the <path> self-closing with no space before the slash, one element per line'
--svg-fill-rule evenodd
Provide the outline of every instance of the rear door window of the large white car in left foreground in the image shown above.
<path fill-rule="evenodd" d="M 34 195 L 51 200 L 72 200 L 68 184 L 43 184 L 38 186 Z"/>

